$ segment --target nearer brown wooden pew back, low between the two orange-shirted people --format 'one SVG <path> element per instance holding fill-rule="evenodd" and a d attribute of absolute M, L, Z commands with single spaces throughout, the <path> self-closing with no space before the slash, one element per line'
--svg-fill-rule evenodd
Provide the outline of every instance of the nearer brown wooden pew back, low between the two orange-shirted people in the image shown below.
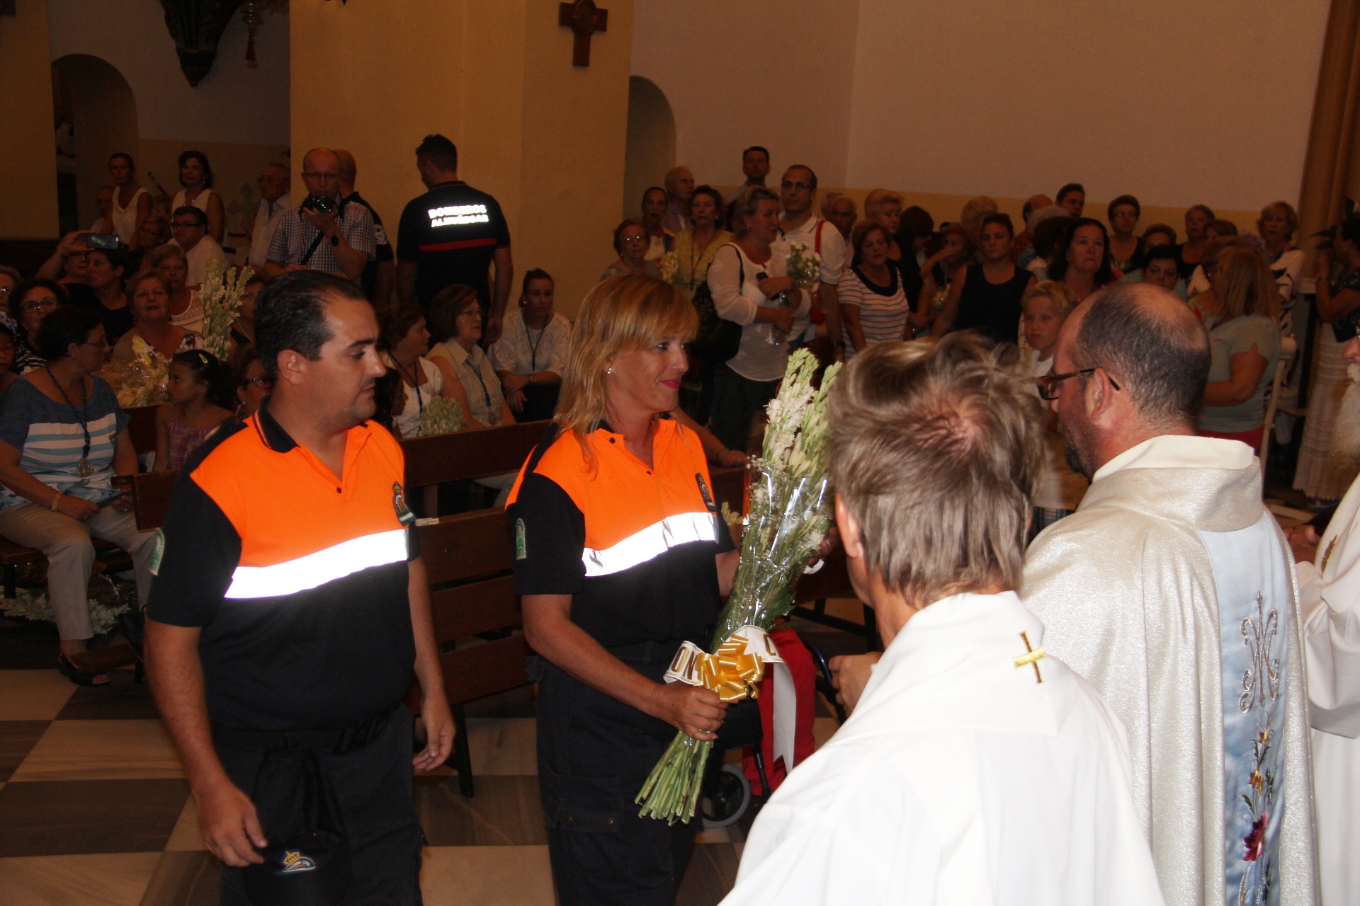
<path fill-rule="evenodd" d="M 529 682 L 529 645 L 520 632 L 520 599 L 511 576 L 510 522 L 503 509 L 479 509 L 422 519 L 416 532 L 430 577 L 445 694 L 457 727 L 450 766 L 458 772 L 458 791 L 472 796 L 462 704 Z"/>

